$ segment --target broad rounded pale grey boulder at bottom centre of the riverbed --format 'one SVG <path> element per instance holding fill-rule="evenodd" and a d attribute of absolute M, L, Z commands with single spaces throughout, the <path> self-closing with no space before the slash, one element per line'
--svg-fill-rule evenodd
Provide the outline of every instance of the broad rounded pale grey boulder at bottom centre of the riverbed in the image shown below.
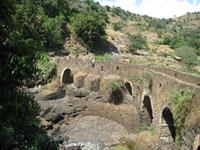
<path fill-rule="evenodd" d="M 122 125 L 99 116 L 77 118 L 62 130 L 63 139 L 67 139 L 68 143 L 113 145 L 119 143 L 120 137 L 127 135 Z"/>

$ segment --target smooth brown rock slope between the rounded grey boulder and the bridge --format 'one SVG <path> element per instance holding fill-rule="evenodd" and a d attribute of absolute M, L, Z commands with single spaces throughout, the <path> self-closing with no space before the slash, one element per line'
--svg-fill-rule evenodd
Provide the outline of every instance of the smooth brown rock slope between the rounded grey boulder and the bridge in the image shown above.
<path fill-rule="evenodd" d="M 104 102 L 95 102 L 91 103 L 82 115 L 101 116 L 114 120 L 131 132 L 137 132 L 139 130 L 139 114 L 134 105 L 113 105 Z"/>

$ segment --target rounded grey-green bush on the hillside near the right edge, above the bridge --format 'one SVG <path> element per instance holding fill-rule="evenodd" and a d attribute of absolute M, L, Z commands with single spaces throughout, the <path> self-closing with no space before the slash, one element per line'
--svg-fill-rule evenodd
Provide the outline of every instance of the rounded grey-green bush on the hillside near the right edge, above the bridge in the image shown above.
<path fill-rule="evenodd" d="M 188 68 L 197 64 L 197 54 L 191 47 L 180 47 L 175 50 L 175 54 L 182 58 L 182 61 L 187 65 Z"/>

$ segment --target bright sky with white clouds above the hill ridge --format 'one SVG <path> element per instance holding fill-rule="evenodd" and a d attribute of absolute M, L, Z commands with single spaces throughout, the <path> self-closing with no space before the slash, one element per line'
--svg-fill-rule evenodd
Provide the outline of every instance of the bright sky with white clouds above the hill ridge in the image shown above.
<path fill-rule="evenodd" d="M 119 6 L 133 13 L 157 18 L 173 18 L 200 11 L 200 0 L 94 0 L 101 5 Z"/>

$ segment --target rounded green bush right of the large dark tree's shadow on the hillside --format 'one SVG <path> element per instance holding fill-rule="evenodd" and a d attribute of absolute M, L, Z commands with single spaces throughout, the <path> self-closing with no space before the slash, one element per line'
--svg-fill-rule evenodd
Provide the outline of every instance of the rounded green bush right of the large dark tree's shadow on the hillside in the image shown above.
<path fill-rule="evenodd" d="M 138 49 L 147 49 L 147 40 L 141 34 L 131 35 L 128 34 L 129 48 L 132 52 Z"/>

